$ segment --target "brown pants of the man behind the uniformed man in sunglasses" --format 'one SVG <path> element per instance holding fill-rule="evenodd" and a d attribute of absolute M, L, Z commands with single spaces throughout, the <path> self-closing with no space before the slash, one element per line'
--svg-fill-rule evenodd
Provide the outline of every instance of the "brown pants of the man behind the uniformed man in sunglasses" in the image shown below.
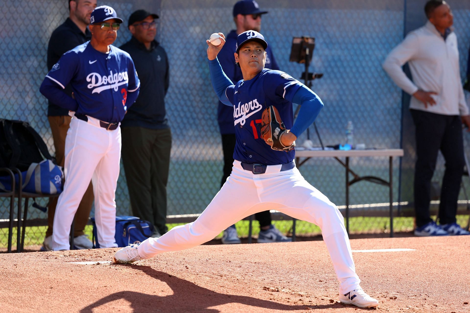
<path fill-rule="evenodd" d="M 57 165 L 63 167 L 65 162 L 65 137 L 67 136 L 67 131 L 70 127 L 70 121 L 72 117 L 70 116 L 49 116 L 49 125 L 51 126 L 52 138 L 54 139 L 54 148 L 55 148 L 55 159 L 57 160 Z M 55 216 L 55 207 L 57 206 L 57 200 L 59 198 L 55 197 L 49 201 L 49 206 L 47 207 L 47 231 L 46 237 L 51 236 L 54 226 L 54 216 Z M 74 233 L 73 236 L 84 235 L 83 230 L 85 229 L 88 218 L 90 217 L 91 206 L 93 204 L 93 185 L 90 181 L 90 185 L 86 189 L 85 194 L 83 195 L 82 201 L 78 204 L 77 212 L 75 213 L 74 219 Z"/>

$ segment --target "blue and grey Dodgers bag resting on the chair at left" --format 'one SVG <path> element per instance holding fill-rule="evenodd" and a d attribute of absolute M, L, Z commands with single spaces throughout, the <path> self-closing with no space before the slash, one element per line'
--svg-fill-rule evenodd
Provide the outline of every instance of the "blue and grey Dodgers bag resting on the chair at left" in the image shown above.
<path fill-rule="evenodd" d="M 27 171 L 21 172 L 21 190 L 40 195 L 60 194 L 63 190 L 62 167 L 51 160 L 43 160 L 30 164 Z M 20 189 L 18 174 L 15 174 L 16 190 Z M 10 191 L 11 181 L 9 176 L 0 177 L 0 190 Z"/>

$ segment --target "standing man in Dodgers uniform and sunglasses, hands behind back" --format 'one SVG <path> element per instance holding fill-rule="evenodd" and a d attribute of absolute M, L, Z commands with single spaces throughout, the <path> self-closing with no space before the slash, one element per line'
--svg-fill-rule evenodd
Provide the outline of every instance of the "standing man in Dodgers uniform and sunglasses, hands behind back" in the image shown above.
<path fill-rule="evenodd" d="M 137 98 L 140 82 L 130 55 L 111 45 L 123 22 L 114 9 L 95 8 L 90 22 L 91 40 L 66 52 L 40 87 L 47 99 L 70 110 L 72 116 L 65 140 L 65 185 L 55 212 L 53 250 L 70 249 L 73 217 L 90 180 L 98 242 L 103 248 L 118 246 L 114 233 L 119 123 Z M 72 97 L 63 92 L 69 83 Z"/>

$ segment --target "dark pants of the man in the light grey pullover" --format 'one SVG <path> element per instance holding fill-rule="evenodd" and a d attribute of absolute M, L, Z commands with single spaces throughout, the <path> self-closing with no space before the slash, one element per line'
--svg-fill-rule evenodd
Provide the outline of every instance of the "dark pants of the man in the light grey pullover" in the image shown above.
<path fill-rule="evenodd" d="M 410 110 L 416 126 L 415 213 L 416 226 L 432 221 L 429 214 L 431 179 L 439 150 L 446 161 L 439 205 L 439 223 L 454 223 L 457 199 L 462 182 L 462 122 L 460 116 Z"/>

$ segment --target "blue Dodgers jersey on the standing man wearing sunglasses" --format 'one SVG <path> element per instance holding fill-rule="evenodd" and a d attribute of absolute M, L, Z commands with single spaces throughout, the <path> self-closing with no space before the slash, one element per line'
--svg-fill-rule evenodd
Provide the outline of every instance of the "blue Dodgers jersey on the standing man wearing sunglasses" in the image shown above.
<path fill-rule="evenodd" d="M 110 46 L 110 53 L 102 53 L 89 41 L 64 53 L 46 77 L 62 88 L 70 83 L 78 102 L 76 113 L 110 123 L 124 118 L 132 105 L 126 103 L 127 92 L 140 84 L 127 52 Z"/>

